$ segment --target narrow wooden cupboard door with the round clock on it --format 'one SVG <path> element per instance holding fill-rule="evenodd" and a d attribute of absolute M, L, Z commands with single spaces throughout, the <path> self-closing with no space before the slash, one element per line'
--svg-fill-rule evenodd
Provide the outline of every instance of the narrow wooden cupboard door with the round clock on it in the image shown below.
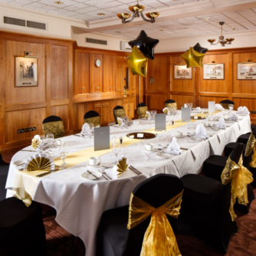
<path fill-rule="evenodd" d="M 100 67 L 96 61 L 100 60 Z M 90 93 L 103 91 L 103 54 L 90 54 Z"/>

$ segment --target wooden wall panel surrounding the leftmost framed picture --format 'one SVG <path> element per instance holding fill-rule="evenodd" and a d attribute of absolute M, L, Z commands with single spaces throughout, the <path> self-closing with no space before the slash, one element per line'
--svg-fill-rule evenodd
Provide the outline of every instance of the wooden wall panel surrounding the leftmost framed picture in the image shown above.
<path fill-rule="evenodd" d="M 29 51 L 38 56 L 38 87 L 15 87 L 15 56 Z M 36 103 L 45 100 L 45 45 L 5 41 L 5 104 Z"/>

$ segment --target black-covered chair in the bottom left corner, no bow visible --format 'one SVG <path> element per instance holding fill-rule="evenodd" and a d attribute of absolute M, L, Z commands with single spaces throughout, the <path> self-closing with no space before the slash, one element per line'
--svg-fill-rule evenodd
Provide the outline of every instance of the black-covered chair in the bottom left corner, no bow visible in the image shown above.
<path fill-rule="evenodd" d="M 46 255 L 41 206 L 14 197 L 0 201 L 0 255 Z"/>

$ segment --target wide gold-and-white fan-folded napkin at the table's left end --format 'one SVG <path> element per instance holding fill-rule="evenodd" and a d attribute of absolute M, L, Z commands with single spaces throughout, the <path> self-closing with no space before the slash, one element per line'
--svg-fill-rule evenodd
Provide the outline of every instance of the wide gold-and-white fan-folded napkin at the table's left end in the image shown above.
<path fill-rule="evenodd" d="M 35 154 L 25 162 L 25 170 L 32 171 L 51 171 L 54 170 L 54 159 L 44 153 Z"/>

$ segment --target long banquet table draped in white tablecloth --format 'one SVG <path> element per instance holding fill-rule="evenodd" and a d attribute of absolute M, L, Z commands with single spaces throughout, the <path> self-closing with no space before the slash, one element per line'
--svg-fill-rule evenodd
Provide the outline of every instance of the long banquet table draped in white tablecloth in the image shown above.
<path fill-rule="evenodd" d="M 192 116 L 197 113 L 192 113 Z M 215 113 L 217 116 L 223 116 L 223 113 Z M 175 116 L 166 116 L 166 121 L 174 120 L 175 123 L 181 119 L 180 114 Z M 202 123 L 205 120 L 195 120 L 194 123 Z M 181 122 L 180 122 L 181 123 Z M 218 123 L 211 121 L 211 123 Z M 22 195 L 28 193 L 36 202 L 50 205 L 56 209 L 56 221 L 61 227 L 65 228 L 72 235 L 81 238 L 86 247 L 87 256 L 94 256 L 96 251 L 96 233 L 100 223 L 101 215 L 104 211 L 111 208 L 117 208 L 128 205 L 130 195 L 136 185 L 144 179 L 154 176 L 158 173 L 169 173 L 179 177 L 189 173 L 198 174 L 202 169 L 202 164 L 208 156 L 221 155 L 227 143 L 235 142 L 238 136 L 251 132 L 250 116 L 239 116 L 238 122 L 226 123 L 225 130 L 206 130 L 210 135 L 209 139 L 201 142 L 192 142 L 188 137 L 178 138 L 179 146 L 188 150 L 182 150 L 179 156 L 172 156 L 169 159 L 163 159 L 156 156 L 156 153 L 150 153 L 143 150 L 144 143 L 153 143 L 156 147 L 159 140 L 125 140 L 124 144 L 129 145 L 128 159 L 131 164 L 142 172 L 142 175 L 136 175 L 128 169 L 118 179 L 106 180 L 101 177 L 98 180 L 84 179 L 81 174 L 87 169 L 85 162 L 67 166 L 67 169 L 53 172 L 48 176 L 38 178 L 22 172 L 23 166 L 16 166 L 18 160 L 24 161 L 35 152 L 19 151 L 11 159 L 6 189 L 7 197 L 14 196 L 19 192 Z M 155 123 L 151 120 L 139 120 L 139 126 L 129 126 L 121 129 L 119 126 L 110 126 L 110 139 L 113 136 L 119 138 L 126 137 L 127 133 L 152 131 Z M 171 136 L 176 136 L 177 131 L 187 133 L 186 123 L 181 123 L 176 127 L 168 125 L 167 132 Z M 70 148 L 70 153 L 77 153 L 84 149 L 93 147 L 93 139 L 84 139 L 79 136 L 65 136 L 64 143 Z M 162 139 L 160 142 L 166 145 Z M 31 146 L 23 150 L 33 150 Z M 59 157 L 58 150 L 54 151 L 54 157 Z M 94 151 L 88 151 L 87 154 L 94 156 Z M 100 161 L 104 166 L 110 166 L 115 161 L 115 156 L 111 150 L 100 156 Z M 68 156 L 67 156 L 68 162 Z M 98 168 L 100 169 L 100 167 Z"/>

